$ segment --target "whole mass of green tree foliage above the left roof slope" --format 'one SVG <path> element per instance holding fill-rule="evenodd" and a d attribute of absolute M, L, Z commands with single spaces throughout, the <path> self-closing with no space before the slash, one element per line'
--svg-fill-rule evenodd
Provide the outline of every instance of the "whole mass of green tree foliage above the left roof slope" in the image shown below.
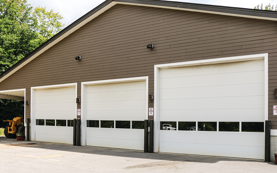
<path fill-rule="evenodd" d="M 62 30 L 62 16 L 27 0 L 0 0 L 0 74 Z"/>

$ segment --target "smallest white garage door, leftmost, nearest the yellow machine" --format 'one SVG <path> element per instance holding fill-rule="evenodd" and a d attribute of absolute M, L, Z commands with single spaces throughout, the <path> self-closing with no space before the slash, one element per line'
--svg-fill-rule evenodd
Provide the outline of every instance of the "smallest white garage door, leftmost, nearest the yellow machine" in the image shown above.
<path fill-rule="evenodd" d="M 35 90 L 35 140 L 73 144 L 75 87 Z"/>

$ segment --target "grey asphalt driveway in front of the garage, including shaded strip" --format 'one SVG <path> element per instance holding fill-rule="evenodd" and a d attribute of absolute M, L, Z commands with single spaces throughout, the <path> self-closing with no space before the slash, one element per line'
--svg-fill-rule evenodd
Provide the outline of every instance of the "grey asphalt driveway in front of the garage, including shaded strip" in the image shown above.
<path fill-rule="evenodd" d="M 144 153 L 38 141 L 17 141 L 6 137 L 0 137 L 0 157 L 0 173 L 277 172 L 277 164 L 261 160 Z"/>

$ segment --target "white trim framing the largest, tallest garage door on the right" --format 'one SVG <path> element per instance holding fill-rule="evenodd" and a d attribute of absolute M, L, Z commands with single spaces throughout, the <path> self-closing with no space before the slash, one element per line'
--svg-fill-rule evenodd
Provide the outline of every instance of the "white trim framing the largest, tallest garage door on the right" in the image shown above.
<path fill-rule="evenodd" d="M 268 53 L 154 65 L 154 152 L 159 152 L 159 69 L 264 59 L 264 120 L 268 120 Z"/>

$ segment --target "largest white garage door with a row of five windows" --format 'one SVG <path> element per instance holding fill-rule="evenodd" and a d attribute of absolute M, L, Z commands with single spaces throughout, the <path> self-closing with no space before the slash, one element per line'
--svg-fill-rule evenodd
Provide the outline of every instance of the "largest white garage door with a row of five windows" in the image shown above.
<path fill-rule="evenodd" d="M 264 159 L 264 60 L 160 69 L 159 123 L 159 152 Z"/>

